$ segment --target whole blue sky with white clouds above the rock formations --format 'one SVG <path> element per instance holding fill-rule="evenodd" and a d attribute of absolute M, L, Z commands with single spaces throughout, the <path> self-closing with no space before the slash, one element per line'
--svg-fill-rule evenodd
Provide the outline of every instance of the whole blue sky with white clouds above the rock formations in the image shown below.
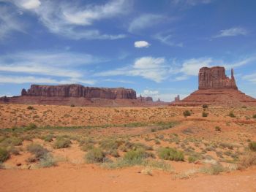
<path fill-rule="evenodd" d="M 171 101 L 202 66 L 256 97 L 254 0 L 0 0 L 0 96 L 36 84 L 133 88 Z"/>

